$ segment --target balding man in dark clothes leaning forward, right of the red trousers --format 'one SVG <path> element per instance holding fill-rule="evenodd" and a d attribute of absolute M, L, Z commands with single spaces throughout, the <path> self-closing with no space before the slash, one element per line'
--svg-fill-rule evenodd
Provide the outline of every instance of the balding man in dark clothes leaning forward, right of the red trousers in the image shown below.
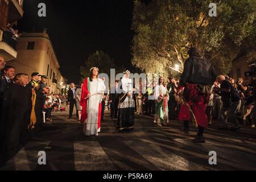
<path fill-rule="evenodd" d="M 221 127 L 222 130 L 229 130 L 226 118 L 232 123 L 232 128 L 230 130 L 236 131 L 240 129 L 240 125 L 237 121 L 236 113 L 241 102 L 241 98 L 229 80 L 225 79 L 225 76 L 220 75 L 217 77 L 218 83 L 220 83 L 220 88 L 214 88 L 215 92 L 220 92 L 221 100 L 223 105 L 221 107 Z M 227 112 L 227 114 L 225 114 Z"/>

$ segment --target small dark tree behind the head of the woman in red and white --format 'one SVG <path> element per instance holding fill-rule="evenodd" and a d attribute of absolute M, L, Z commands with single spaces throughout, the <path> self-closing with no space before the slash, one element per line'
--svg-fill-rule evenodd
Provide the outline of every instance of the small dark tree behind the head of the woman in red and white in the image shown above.
<path fill-rule="evenodd" d="M 106 73 L 110 76 L 110 68 L 114 68 L 114 60 L 107 53 L 96 51 L 88 57 L 85 65 L 80 67 L 82 78 L 89 77 L 92 67 L 97 67 L 100 73 Z"/>

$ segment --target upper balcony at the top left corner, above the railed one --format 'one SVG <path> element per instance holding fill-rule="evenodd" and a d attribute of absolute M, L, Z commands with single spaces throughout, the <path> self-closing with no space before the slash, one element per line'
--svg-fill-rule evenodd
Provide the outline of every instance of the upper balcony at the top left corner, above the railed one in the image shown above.
<path fill-rule="evenodd" d="M 9 1 L 9 15 L 8 22 L 14 23 L 23 16 L 23 0 L 10 0 Z"/>

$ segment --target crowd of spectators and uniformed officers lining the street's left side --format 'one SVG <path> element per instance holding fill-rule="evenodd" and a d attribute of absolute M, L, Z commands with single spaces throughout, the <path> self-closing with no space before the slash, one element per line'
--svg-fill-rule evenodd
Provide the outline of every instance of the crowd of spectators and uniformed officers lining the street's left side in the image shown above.
<path fill-rule="evenodd" d="M 59 94 L 51 94 L 47 76 L 32 73 L 15 74 L 15 68 L 6 65 L 0 57 L 0 164 L 18 152 L 26 141 L 51 122 L 51 113 L 61 110 Z"/>

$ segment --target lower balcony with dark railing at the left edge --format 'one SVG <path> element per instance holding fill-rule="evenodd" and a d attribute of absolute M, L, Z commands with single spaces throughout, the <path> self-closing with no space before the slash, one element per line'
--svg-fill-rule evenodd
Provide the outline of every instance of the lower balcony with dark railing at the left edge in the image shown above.
<path fill-rule="evenodd" d="M 0 55 L 5 58 L 6 61 L 15 59 L 17 52 L 15 51 L 17 44 L 16 36 L 8 28 L 3 32 L 2 41 L 0 41 Z"/>

